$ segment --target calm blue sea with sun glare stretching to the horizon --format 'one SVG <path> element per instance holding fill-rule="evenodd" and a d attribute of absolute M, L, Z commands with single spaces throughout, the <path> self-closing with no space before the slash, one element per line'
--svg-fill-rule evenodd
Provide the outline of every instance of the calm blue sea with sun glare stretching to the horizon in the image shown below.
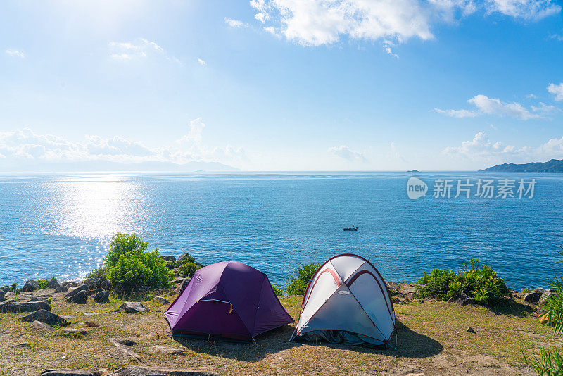
<path fill-rule="evenodd" d="M 193 173 L 0 175 L 0 285 L 100 265 L 109 239 L 135 232 L 161 254 L 235 260 L 284 282 L 301 263 L 339 253 L 370 258 L 386 280 L 479 258 L 510 287 L 563 274 L 563 174 Z M 535 178 L 534 197 L 432 197 L 434 180 Z M 475 187 L 473 188 L 475 189 Z M 514 189 L 514 192 L 516 189 Z M 358 232 L 342 227 L 356 225 Z"/>

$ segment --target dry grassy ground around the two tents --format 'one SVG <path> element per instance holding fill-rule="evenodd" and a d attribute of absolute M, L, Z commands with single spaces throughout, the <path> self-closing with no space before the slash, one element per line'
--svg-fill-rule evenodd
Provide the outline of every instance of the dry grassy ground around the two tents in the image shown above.
<path fill-rule="evenodd" d="M 71 316 L 71 327 L 86 328 L 82 322 L 100 326 L 87 327 L 85 336 L 67 337 L 60 331 L 42 332 L 29 322 L 18 322 L 23 313 L 0 314 L 0 376 L 38 375 L 49 368 L 110 370 L 138 365 L 110 344 L 111 337 L 136 341 L 132 349 L 144 365 L 196 368 L 221 375 L 533 375 L 521 363 L 521 351 L 537 354 L 543 346 L 563 343 L 521 301 L 502 311 L 442 301 L 398 305 L 398 351 L 382 351 L 289 342 L 294 325 L 262 334 L 257 344 L 179 342 L 168 332 L 162 312 L 166 306 L 153 301 L 146 302 L 150 313 L 132 315 L 114 312 L 122 303 L 115 299 L 80 306 L 61 298 L 60 294 L 53 296 L 52 311 Z M 301 297 L 283 297 L 281 302 L 297 319 Z M 469 326 L 476 334 L 466 331 Z M 18 344 L 27 345 L 16 347 Z M 153 345 L 185 352 L 172 355 Z"/>

